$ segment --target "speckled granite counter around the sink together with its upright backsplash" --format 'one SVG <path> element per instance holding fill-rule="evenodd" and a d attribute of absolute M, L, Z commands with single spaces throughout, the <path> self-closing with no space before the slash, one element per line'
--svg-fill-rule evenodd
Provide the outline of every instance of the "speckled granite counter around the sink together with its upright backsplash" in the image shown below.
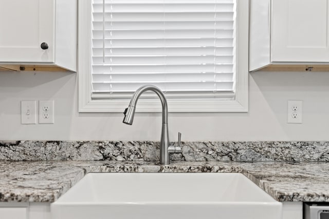
<path fill-rule="evenodd" d="M 239 172 L 278 201 L 329 202 L 329 142 L 0 141 L 0 201 L 54 202 L 88 172 Z M 247 163 L 249 162 L 249 163 Z"/>

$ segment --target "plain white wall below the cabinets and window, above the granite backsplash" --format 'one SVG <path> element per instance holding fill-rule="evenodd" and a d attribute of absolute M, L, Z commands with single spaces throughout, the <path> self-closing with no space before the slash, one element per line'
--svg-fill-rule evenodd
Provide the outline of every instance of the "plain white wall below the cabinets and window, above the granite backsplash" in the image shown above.
<path fill-rule="evenodd" d="M 159 141 L 159 113 L 78 113 L 77 74 L 0 73 L 0 140 Z M 171 141 L 329 141 L 329 72 L 249 75 L 248 113 L 170 113 Z M 21 125 L 22 100 L 54 99 L 55 124 Z M 303 124 L 287 124 L 288 99 L 303 101 Z M 124 109 L 122 109 L 123 111 Z"/>

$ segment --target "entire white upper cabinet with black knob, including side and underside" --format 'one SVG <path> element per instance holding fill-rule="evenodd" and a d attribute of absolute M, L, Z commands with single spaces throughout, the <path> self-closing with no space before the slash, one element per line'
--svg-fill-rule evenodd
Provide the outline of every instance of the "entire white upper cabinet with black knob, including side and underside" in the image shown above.
<path fill-rule="evenodd" d="M 1 0 L 0 8 L 0 67 L 77 70 L 77 0 Z"/>

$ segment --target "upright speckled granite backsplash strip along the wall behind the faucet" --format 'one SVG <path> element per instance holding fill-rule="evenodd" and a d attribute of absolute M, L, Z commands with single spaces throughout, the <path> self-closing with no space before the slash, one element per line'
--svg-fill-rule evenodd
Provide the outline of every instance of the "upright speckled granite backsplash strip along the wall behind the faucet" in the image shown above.
<path fill-rule="evenodd" d="M 0 161 L 159 161 L 159 142 L 0 141 Z M 182 142 L 172 161 L 329 161 L 329 142 Z"/>

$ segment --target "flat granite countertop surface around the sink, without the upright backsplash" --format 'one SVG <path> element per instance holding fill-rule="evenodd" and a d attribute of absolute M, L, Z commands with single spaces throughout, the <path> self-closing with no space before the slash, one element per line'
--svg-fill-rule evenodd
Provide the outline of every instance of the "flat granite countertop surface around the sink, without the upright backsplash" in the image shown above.
<path fill-rule="evenodd" d="M 239 172 L 277 201 L 329 202 L 329 163 L 1 161 L 0 201 L 54 202 L 88 172 Z"/>

